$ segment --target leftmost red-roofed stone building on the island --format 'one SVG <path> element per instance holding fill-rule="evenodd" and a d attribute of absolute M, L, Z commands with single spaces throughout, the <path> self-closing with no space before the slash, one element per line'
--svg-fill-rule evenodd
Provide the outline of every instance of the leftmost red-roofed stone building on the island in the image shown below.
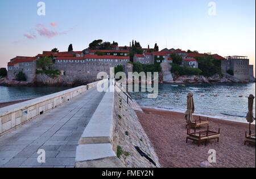
<path fill-rule="evenodd" d="M 34 82 L 36 78 L 36 58 L 35 57 L 20 57 L 17 56 L 8 63 L 7 77 L 10 80 L 15 80 L 16 75 L 22 71 L 27 78 L 27 82 Z"/>

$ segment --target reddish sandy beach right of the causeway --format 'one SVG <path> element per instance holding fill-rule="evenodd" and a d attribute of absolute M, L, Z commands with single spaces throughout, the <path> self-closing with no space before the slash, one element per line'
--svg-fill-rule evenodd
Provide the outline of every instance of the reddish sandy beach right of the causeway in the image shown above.
<path fill-rule="evenodd" d="M 207 146 L 198 147 L 192 141 L 185 142 L 187 129 L 183 113 L 156 109 L 143 109 L 143 112 L 137 115 L 162 167 L 200 167 L 201 162 L 208 160 L 208 151 L 214 149 L 217 163 L 213 167 L 255 168 L 255 146 L 243 144 L 249 124 L 210 118 L 210 130 L 221 129 L 220 142 L 212 140 Z M 252 130 L 255 133 L 255 125 Z"/>

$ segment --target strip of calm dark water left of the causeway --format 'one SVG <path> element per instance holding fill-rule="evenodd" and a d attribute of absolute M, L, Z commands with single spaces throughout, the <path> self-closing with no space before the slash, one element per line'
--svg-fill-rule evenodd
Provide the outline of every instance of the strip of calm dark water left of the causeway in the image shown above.
<path fill-rule="evenodd" d="M 9 101 L 32 99 L 45 96 L 69 87 L 3 87 L 0 86 L 0 103 Z"/>

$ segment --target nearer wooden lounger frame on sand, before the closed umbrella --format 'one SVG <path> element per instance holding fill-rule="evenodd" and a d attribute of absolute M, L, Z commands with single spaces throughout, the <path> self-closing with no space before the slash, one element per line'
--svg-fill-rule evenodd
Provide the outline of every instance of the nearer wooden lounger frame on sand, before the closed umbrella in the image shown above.
<path fill-rule="evenodd" d="M 186 143 L 188 143 L 188 140 L 193 140 L 193 142 L 197 142 L 198 146 L 200 146 L 202 142 L 204 142 L 206 146 L 209 140 L 214 140 L 214 139 L 217 139 L 217 142 L 219 142 L 220 128 L 218 129 L 218 132 L 215 132 L 215 131 L 209 130 L 209 125 L 208 125 L 206 131 L 196 132 L 196 128 L 194 128 L 194 133 L 191 133 L 190 128 L 187 129 Z"/>

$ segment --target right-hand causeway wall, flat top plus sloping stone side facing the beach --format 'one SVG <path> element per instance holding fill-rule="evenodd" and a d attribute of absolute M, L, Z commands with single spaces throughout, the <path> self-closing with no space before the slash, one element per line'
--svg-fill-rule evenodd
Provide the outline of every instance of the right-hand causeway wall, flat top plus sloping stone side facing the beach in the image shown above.
<path fill-rule="evenodd" d="M 112 83 L 110 83 L 112 84 Z M 134 112 L 133 101 L 110 85 L 82 134 L 76 150 L 77 168 L 160 167 L 158 157 Z M 141 148 L 156 166 L 142 157 Z"/>

